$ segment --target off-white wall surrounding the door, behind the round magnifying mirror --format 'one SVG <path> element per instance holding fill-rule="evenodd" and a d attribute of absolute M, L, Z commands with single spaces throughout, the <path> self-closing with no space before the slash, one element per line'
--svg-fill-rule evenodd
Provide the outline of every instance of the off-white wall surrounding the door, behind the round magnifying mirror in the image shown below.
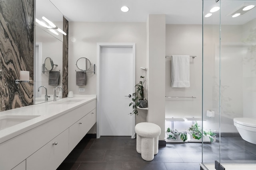
<path fill-rule="evenodd" d="M 136 43 L 136 82 L 146 66 L 146 22 L 69 22 L 68 90 L 74 94 L 96 94 L 96 74 L 88 73 L 86 86 L 76 86 L 76 61 L 88 58 L 96 64 L 97 43 Z M 96 66 L 97 67 L 97 66 Z M 93 70 L 91 68 L 90 70 Z M 85 92 L 78 92 L 85 88 Z"/>

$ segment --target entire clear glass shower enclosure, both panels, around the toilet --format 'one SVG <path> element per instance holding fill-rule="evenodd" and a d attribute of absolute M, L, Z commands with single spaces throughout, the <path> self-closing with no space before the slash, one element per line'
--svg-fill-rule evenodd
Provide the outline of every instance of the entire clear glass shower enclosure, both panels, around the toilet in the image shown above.
<path fill-rule="evenodd" d="M 256 144 L 242 139 L 234 118 L 256 123 L 256 0 L 202 3 L 202 127 L 217 135 L 216 142 L 202 144 L 201 167 L 255 170 Z"/>

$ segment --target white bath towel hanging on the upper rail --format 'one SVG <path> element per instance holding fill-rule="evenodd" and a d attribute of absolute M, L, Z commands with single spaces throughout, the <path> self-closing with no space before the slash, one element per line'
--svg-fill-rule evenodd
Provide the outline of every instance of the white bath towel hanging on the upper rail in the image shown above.
<path fill-rule="evenodd" d="M 172 87 L 190 87 L 189 55 L 172 55 Z"/>

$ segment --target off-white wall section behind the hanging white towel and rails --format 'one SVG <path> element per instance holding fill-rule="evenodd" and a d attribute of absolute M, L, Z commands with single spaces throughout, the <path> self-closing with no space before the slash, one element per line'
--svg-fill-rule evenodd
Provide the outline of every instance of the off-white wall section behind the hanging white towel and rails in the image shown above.
<path fill-rule="evenodd" d="M 166 96 L 190 98 L 166 98 L 166 117 L 202 117 L 202 25 L 166 25 L 166 55 L 195 55 L 190 57 L 190 87 L 171 87 L 171 57 L 165 61 Z"/>

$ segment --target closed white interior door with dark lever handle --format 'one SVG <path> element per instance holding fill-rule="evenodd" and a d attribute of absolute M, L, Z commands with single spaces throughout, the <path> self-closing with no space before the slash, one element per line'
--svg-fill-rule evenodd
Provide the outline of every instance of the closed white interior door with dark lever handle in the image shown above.
<path fill-rule="evenodd" d="M 135 47 L 134 47 L 135 48 Z M 99 132 L 101 136 L 134 135 L 135 118 L 130 115 L 135 82 L 135 53 L 132 46 L 100 47 Z M 97 128 L 98 129 L 98 128 Z"/>

